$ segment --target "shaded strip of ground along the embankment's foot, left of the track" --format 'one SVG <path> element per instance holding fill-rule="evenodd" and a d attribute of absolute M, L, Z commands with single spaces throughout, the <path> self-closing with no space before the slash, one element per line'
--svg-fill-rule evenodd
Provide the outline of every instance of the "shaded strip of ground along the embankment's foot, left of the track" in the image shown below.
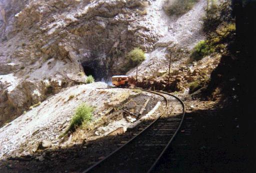
<path fill-rule="evenodd" d="M 121 135 L 106 136 L 64 149 L 44 150 L 31 156 L 1 160 L 0 173 L 81 173 L 119 148 L 121 141 L 131 139 L 142 125 L 151 122 L 145 121 Z M 36 159 L 38 156 L 43 156 L 43 161 Z"/>

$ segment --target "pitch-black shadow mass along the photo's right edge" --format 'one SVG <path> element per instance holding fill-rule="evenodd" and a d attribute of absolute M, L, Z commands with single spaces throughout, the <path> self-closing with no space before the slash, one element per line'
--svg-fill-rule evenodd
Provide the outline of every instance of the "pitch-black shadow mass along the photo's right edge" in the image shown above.
<path fill-rule="evenodd" d="M 223 98 L 236 100 L 239 107 L 238 124 L 244 136 L 241 143 L 248 147 L 249 156 L 255 160 L 256 1 L 232 0 L 232 9 L 236 33 L 230 37 L 232 41 L 228 45 L 228 52 L 221 57 L 218 67 L 212 72 L 204 94 L 212 99 L 218 88 Z"/>

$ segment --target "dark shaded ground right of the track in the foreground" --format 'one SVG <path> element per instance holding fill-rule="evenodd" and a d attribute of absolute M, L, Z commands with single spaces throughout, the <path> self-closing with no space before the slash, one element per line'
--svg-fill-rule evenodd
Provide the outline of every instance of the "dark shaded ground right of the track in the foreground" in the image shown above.
<path fill-rule="evenodd" d="M 187 113 L 181 133 L 154 173 L 253 173 L 239 127 L 239 107 Z"/>

